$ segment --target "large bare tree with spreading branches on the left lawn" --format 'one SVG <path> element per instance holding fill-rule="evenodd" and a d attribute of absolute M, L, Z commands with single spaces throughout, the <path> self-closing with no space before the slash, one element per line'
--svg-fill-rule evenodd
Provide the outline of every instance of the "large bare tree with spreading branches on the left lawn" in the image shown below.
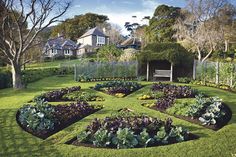
<path fill-rule="evenodd" d="M 68 10 L 70 2 L 59 0 L 2 0 L 0 51 L 12 67 L 13 88 L 23 88 L 22 60 L 29 49 L 37 44 L 37 36 Z"/>

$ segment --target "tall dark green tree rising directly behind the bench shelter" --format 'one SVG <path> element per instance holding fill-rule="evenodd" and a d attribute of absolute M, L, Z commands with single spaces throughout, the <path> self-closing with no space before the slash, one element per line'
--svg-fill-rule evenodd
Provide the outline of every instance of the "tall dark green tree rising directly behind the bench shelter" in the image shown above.
<path fill-rule="evenodd" d="M 173 23 L 180 16 L 180 8 L 160 5 L 156 8 L 153 17 L 146 27 L 146 38 L 148 42 L 172 42 L 175 30 Z"/>

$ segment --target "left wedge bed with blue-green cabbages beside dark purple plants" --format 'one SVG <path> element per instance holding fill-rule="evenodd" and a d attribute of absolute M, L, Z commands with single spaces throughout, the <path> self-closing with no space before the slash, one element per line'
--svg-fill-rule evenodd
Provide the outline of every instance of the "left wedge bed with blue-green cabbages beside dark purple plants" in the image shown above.
<path fill-rule="evenodd" d="M 20 108 L 16 120 L 23 130 L 46 139 L 101 108 L 86 102 L 52 106 L 44 100 L 37 100 L 36 105 L 27 104 Z"/>

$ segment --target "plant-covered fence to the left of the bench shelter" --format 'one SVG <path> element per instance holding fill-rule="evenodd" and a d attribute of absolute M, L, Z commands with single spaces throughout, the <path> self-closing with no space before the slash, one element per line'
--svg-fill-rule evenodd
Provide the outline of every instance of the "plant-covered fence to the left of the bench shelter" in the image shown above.
<path fill-rule="evenodd" d="M 138 62 L 81 62 L 79 64 L 64 64 L 63 68 L 74 67 L 74 78 L 80 76 L 90 79 L 102 78 L 135 78 L 138 77 Z"/>

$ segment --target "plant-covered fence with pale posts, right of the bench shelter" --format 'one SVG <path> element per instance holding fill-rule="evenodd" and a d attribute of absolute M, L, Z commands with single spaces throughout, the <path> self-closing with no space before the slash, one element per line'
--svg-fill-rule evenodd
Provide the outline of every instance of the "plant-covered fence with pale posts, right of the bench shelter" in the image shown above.
<path fill-rule="evenodd" d="M 212 61 L 194 61 L 193 79 L 215 84 L 236 86 L 236 64 L 212 62 Z"/>

